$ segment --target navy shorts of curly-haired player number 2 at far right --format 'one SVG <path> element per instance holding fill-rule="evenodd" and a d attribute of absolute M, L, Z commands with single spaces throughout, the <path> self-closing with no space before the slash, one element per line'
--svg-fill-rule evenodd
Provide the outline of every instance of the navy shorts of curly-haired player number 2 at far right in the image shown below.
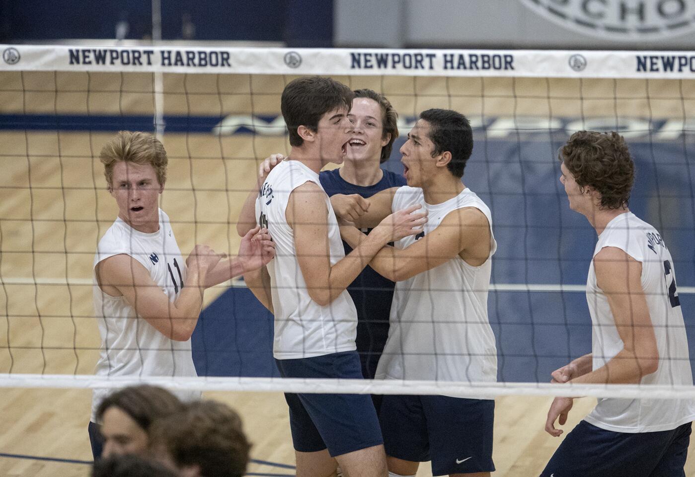
<path fill-rule="evenodd" d="M 632 433 L 581 421 L 564 438 L 541 477 L 685 477 L 691 424 Z"/>

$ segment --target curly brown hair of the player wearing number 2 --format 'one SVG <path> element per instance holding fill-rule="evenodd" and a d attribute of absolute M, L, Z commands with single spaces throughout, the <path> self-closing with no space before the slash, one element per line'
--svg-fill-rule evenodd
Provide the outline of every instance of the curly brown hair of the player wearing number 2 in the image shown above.
<path fill-rule="evenodd" d="M 635 182 L 632 162 L 625 138 L 615 131 L 577 131 L 560 147 L 558 158 L 582 188 L 594 188 L 601 195 L 601 208 L 628 207 Z"/>

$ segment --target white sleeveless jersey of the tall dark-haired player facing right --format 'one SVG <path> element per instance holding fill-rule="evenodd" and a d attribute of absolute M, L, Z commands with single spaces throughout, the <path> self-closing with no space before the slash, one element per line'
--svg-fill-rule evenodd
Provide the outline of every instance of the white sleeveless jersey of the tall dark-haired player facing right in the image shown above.
<path fill-rule="evenodd" d="M 293 230 L 285 218 L 290 194 L 295 188 L 313 182 L 321 188 L 318 174 L 300 161 L 279 163 L 265 179 L 256 200 L 256 218 L 267 227 L 275 241 L 275 258 L 268 264 L 272 306 L 275 309 L 273 355 L 295 359 L 342 353 L 357 349 L 357 311 L 347 290 L 322 307 L 306 291 Z M 336 214 L 328 195 L 328 240 L 333 266 L 345 257 Z"/>

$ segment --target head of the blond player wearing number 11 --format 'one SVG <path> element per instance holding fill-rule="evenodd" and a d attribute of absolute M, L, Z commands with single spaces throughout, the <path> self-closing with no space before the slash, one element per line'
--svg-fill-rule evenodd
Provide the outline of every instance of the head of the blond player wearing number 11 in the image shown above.
<path fill-rule="evenodd" d="M 159 194 L 167 179 L 167 153 L 152 134 L 120 131 L 99 153 L 118 216 L 140 232 L 156 232 Z M 151 230 L 154 227 L 154 230 Z"/>

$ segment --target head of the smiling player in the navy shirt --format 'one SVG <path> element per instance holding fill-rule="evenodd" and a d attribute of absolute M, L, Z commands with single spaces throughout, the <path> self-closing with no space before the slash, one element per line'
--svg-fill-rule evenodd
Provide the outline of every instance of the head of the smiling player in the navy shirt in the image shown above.
<path fill-rule="evenodd" d="M 393 141 L 398 138 L 398 113 L 389 100 L 375 90 L 355 90 L 347 118 L 352 124 L 352 134 L 347 142 L 346 159 L 388 161 Z"/>

